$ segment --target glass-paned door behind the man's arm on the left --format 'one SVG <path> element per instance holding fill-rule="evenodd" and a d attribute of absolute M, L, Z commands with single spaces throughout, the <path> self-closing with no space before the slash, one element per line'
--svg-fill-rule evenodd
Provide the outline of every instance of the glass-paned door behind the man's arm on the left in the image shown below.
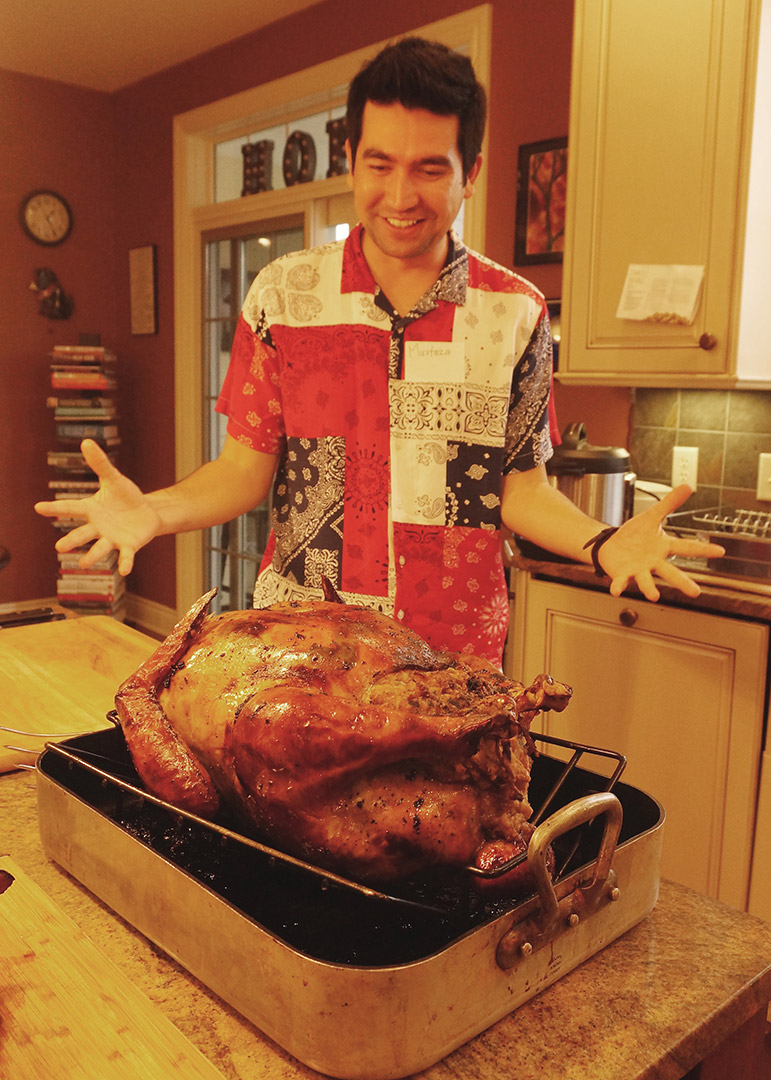
<path fill-rule="evenodd" d="M 214 406 L 228 369 L 241 307 L 256 274 L 279 255 L 303 246 L 303 220 L 252 226 L 204 238 L 203 444 L 207 460 L 225 445 L 227 418 Z M 218 586 L 211 610 L 252 607 L 252 592 L 270 532 L 268 502 L 204 534 L 205 588 Z"/>

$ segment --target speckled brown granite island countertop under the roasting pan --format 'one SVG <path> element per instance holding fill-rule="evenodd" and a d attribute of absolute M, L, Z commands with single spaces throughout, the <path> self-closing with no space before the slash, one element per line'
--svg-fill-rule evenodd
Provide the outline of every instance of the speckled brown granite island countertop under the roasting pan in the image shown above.
<path fill-rule="evenodd" d="M 317 1077 L 46 859 L 31 772 L 0 777 L 0 853 L 9 854 L 224 1077 Z M 752 1027 L 760 1038 L 770 998 L 771 927 L 663 882 L 650 916 L 421 1076 L 676 1080 L 738 1029 Z M 742 1068 L 734 1071 L 747 1076 Z"/>

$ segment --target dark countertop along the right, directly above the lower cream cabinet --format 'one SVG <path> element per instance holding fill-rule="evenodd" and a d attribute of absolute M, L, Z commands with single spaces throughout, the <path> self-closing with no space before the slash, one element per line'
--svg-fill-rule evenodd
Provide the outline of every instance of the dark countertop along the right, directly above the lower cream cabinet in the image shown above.
<path fill-rule="evenodd" d="M 598 578 L 594 569 L 583 563 L 560 563 L 549 558 L 531 558 L 523 555 L 513 545 L 509 546 L 508 561 L 512 568 L 525 570 L 527 573 L 532 573 L 539 578 L 580 585 L 583 589 L 594 589 L 598 592 L 608 592 L 607 579 Z M 768 594 L 752 592 L 744 588 L 736 589 L 729 585 L 715 584 L 715 579 L 708 573 L 692 573 L 691 576 L 699 582 L 701 589 L 699 596 L 685 596 L 677 589 L 673 589 L 672 585 L 666 585 L 662 581 L 657 580 L 657 586 L 661 593 L 661 600 L 659 603 L 673 607 L 711 611 L 714 615 L 727 615 L 734 618 L 771 622 L 771 588 L 769 588 Z M 645 599 L 635 586 L 627 589 L 623 596 L 631 599 Z"/>

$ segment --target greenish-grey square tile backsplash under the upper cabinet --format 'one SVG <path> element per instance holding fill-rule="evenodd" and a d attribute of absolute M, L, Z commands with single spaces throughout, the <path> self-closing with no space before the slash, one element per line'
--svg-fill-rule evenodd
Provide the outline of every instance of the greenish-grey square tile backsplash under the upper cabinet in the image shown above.
<path fill-rule="evenodd" d="M 771 511 L 771 502 L 756 497 L 758 455 L 771 454 L 771 391 L 638 389 L 632 431 L 632 468 L 640 480 L 671 484 L 673 447 L 699 447 L 688 509 Z"/>

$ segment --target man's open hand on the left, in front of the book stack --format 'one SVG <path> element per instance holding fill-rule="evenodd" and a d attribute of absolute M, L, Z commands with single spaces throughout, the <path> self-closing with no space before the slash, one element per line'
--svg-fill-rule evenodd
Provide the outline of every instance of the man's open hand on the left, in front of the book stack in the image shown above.
<path fill-rule="evenodd" d="M 66 552 L 92 544 L 79 563 L 87 569 L 106 558 L 114 548 L 118 570 L 125 577 L 131 572 L 137 551 L 159 535 L 161 518 L 147 496 L 116 469 L 93 440 L 83 440 L 81 451 L 99 480 L 98 491 L 84 499 L 37 502 L 35 509 L 43 517 L 82 518 L 82 525 L 56 541 L 56 550 Z"/>

